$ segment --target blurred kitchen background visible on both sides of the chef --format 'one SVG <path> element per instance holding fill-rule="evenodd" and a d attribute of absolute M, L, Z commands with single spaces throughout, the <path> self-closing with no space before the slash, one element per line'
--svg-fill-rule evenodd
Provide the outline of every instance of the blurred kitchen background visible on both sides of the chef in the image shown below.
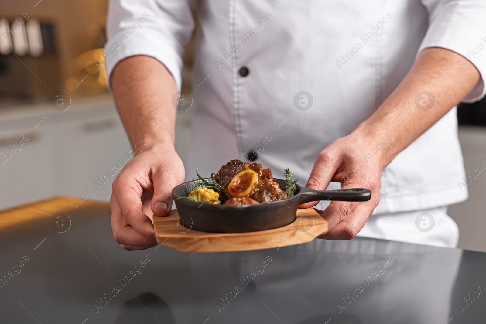
<path fill-rule="evenodd" d="M 114 177 L 98 190 L 93 182 L 131 147 L 106 88 L 107 0 L 37 1 L 0 1 L 0 154 L 28 135 L 0 162 L 0 209 L 55 195 L 109 201 Z M 191 40 L 183 71 L 189 93 L 193 49 Z M 177 114 L 175 148 L 186 161 L 192 110 Z M 486 101 L 460 105 L 458 116 L 466 172 L 474 171 L 486 165 Z M 486 175 L 468 188 L 469 200 L 449 214 L 459 247 L 486 251 Z"/>

